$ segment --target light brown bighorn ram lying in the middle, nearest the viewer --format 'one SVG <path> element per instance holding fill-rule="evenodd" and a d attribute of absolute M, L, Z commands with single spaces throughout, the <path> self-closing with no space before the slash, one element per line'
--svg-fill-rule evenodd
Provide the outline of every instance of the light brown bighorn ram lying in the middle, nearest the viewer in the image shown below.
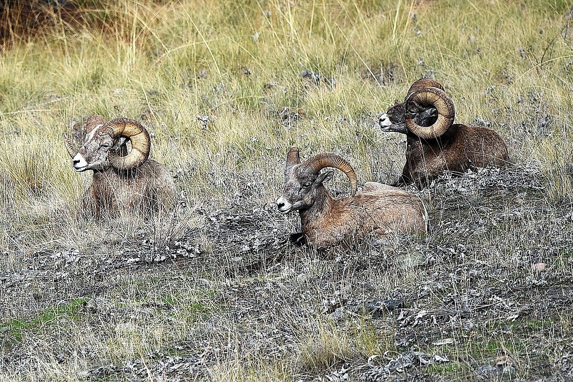
<path fill-rule="evenodd" d="M 323 184 L 334 172 L 319 174 L 325 167 L 348 176 L 351 196 L 332 198 Z M 368 235 L 426 232 L 427 212 L 418 196 L 374 182 L 356 192 L 357 185 L 354 170 L 342 157 L 322 153 L 300 163 L 299 149 L 293 147 L 286 155 L 285 190 L 277 199 L 278 211 L 298 210 L 307 242 L 319 249 Z"/>

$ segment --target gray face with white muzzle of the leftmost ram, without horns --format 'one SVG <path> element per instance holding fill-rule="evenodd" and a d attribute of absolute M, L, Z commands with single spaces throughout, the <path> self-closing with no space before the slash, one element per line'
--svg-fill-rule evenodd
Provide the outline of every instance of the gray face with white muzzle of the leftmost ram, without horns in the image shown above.
<path fill-rule="evenodd" d="M 86 133 L 84 145 L 72 159 L 75 171 L 103 171 L 109 168 L 109 150 L 117 149 L 119 140 L 113 139 L 109 132 L 102 130 L 102 127 L 103 125 L 97 125 Z"/>

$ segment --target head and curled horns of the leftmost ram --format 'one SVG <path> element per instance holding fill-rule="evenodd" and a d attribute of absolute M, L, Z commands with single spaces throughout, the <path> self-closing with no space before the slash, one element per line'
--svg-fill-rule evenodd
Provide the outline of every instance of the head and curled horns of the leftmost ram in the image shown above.
<path fill-rule="evenodd" d="M 131 141 L 131 151 L 120 156 L 118 151 L 127 140 Z M 106 123 L 100 115 L 91 116 L 86 121 L 82 147 L 76 148 L 65 136 L 64 143 L 77 172 L 104 171 L 109 167 L 131 170 L 147 160 L 151 147 L 149 133 L 138 121 L 116 118 Z"/>

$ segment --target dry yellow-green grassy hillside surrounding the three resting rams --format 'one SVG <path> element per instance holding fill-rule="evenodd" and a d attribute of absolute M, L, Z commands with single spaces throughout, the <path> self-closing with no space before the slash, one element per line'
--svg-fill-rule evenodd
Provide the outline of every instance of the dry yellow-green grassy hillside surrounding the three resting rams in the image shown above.
<path fill-rule="evenodd" d="M 0 382 L 572 377 L 570 3 L 32 3 L 3 9 Z M 420 77 L 515 167 L 413 190 L 427 237 L 286 242 L 288 149 L 392 182 L 405 139 L 377 116 Z M 61 136 L 95 113 L 150 131 L 173 216 L 79 217 Z"/>

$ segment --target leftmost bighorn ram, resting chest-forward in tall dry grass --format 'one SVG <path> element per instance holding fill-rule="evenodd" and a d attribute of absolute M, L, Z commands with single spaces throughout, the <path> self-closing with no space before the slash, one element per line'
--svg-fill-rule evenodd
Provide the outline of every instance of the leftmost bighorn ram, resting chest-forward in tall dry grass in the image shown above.
<path fill-rule="evenodd" d="M 93 171 L 92 184 L 83 196 L 85 215 L 149 215 L 171 206 L 173 179 L 164 166 L 148 159 L 150 136 L 137 121 L 116 118 L 105 122 L 103 116 L 91 116 L 84 145 L 78 149 L 65 136 L 64 143 L 74 170 Z"/>

